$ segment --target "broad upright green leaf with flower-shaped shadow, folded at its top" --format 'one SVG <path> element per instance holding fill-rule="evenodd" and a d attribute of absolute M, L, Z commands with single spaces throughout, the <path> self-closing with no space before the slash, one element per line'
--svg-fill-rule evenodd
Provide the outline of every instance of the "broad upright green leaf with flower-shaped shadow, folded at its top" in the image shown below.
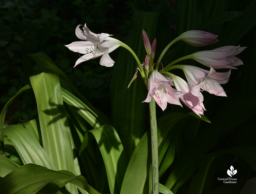
<path fill-rule="evenodd" d="M 80 175 L 75 149 L 57 74 L 41 73 L 30 77 L 35 93 L 42 143 L 57 170 L 68 170 Z M 71 193 L 77 193 L 73 185 L 67 185 Z"/>

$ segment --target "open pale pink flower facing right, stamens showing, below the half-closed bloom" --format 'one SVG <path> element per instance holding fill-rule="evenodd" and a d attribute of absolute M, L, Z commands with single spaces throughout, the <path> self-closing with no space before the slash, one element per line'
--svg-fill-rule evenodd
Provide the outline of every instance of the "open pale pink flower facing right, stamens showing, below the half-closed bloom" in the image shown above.
<path fill-rule="evenodd" d="M 190 65 L 177 65 L 182 69 L 191 88 L 191 93 L 199 97 L 200 90 L 207 91 L 216 96 L 227 96 L 220 84 L 225 84 L 229 80 L 231 69 L 228 72 L 219 73 L 211 67 L 210 71 L 205 69 L 190 66 Z"/>

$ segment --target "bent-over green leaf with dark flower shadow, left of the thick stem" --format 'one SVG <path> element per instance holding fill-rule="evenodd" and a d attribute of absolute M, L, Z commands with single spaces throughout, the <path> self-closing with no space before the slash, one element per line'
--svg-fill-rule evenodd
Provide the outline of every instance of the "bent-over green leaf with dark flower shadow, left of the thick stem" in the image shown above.
<path fill-rule="evenodd" d="M 110 193 L 120 193 L 128 161 L 116 130 L 111 125 L 103 125 L 88 132 L 92 133 L 99 145 L 107 171 Z"/>

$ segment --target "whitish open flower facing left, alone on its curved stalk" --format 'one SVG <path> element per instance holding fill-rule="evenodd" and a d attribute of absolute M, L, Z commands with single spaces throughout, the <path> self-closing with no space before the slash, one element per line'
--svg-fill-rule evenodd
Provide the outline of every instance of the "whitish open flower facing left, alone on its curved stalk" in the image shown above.
<path fill-rule="evenodd" d="M 80 29 L 80 26 L 82 25 L 78 25 L 76 27 L 76 36 L 84 41 L 77 41 L 65 45 L 68 47 L 68 49 L 74 52 L 78 52 L 79 55 L 80 53 L 84 54 L 82 57 L 80 56 L 80 58 L 76 61 L 75 66 L 84 61 L 100 56 L 102 56 L 100 59 L 100 65 L 107 67 L 113 66 L 115 61 L 110 58 L 108 53 L 121 46 L 122 42 L 115 38 L 109 37 L 110 35 L 106 33 L 95 34 L 86 27 L 86 24 L 84 24 L 83 27 L 84 31 Z"/>

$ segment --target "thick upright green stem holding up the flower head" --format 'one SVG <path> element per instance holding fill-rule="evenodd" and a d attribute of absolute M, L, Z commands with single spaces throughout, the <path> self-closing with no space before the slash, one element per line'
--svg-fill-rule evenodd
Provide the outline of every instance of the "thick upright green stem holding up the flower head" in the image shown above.
<path fill-rule="evenodd" d="M 152 194 L 159 194 L 159 172 L 158 172 L 158 143 L 156 125 L 156 102 L 154 98 L 149 102 L 151 152 L 152 152 Z"/>

